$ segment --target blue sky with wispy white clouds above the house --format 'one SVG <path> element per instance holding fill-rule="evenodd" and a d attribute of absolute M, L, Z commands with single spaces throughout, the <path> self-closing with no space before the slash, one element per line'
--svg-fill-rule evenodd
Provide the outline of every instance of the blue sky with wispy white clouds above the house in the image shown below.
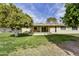
<path fill-rule="evenodd" d="M 59 21 L 65 14 L 63 3 L 16 3 L 15 5 L 29 14 L 34 23 L 45 23 L 49 17 L 55 17 Z"/>

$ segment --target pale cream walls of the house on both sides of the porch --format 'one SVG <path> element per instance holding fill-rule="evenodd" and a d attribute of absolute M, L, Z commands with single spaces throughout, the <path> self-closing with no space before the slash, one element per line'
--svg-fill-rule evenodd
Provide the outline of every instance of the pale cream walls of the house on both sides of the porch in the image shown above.
<path fill-rule="evenodd" d="M 79 33 L 79 27 L 78 30 L 72 30 L 72 27 L 66 27 L 66 30 L 61 30 L 61 27 L 58 26 L 57 32 L 55 32 L 55 26 L 48 26 L 48 32 L 51 33 L 60 33 L 60 34 L 66 34 L 66 33 Z M 30 30 L 33 30 L 33 28 L 22 28 L 22 33 L 29 32 Z"/>

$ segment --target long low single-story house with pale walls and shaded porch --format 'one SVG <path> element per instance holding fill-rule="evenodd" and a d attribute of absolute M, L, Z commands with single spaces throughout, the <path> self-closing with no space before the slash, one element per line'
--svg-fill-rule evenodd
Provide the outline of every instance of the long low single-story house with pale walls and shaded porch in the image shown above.
<path fill-rule="evenodd" d="M 79 27 L 68 27 L 64 24 L 33 24 L 31 28 L 22 28 L 22 32 L 49 34 L 74 34 L 79 33 Z"/>

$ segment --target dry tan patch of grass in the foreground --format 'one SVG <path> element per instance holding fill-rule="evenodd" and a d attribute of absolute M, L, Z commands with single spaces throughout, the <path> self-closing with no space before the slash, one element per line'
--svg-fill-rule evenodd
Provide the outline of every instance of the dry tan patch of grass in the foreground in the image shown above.
<path fill-rule="evenodd" d="M 37 48 L 22 49 L 19 48 L 17 51 L 10 53 L 12 56 L 73 56 L 74 54 L 70 51 L 63 50 L 56 44 L 48 43 L 47 45 L 41 45 Z"/>

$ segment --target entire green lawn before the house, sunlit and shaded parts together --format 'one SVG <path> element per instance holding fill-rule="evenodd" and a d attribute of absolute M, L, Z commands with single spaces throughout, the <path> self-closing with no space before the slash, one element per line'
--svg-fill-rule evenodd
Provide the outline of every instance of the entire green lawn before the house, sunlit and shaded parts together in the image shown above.
<path fill-rule="evenodd" d="M 71 35 L 38 35 L 38 36 L 20 36 L 12 37 L 10 33 L 0 34 L 0 55 L 8 55 L 19 48 L 28 49 L 46 45 L 49 42 L 62 43 L 65 41 L 72 41 L 79 39 Z"/>

